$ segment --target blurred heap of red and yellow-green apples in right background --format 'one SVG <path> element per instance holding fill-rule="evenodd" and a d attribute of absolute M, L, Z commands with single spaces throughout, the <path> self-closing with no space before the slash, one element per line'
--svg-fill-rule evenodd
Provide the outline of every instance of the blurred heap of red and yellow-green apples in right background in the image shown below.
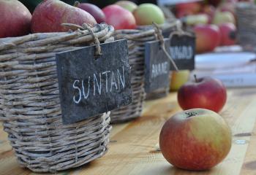
<path fill-rule="evenodd" d="M 176 5 L 176 17 L 195 31 L 197 52 L 236 44 L 236 3 L 238 0 L 208 0 Z"/>

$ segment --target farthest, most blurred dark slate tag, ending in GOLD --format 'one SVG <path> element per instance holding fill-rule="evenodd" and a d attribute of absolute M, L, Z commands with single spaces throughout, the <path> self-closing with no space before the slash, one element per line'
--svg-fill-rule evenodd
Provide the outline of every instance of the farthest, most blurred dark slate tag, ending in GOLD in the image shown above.
<path fill-rule="evenodd" d="M 170 56 L 178 69 L 195 69 L 195 36 L 174 34 L 170 39 Z M 170 70 L 174 70 L 172 65 Z"/>

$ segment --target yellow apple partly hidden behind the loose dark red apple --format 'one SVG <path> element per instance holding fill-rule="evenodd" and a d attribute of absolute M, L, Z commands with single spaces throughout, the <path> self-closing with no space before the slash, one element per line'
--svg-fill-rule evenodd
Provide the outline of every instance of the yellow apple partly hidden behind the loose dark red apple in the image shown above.
<path fill-rule="evenodd" d="M 189 80 L 189 70 L 173 71 L 170 79 L 170 90 L 178 90 Z"/>

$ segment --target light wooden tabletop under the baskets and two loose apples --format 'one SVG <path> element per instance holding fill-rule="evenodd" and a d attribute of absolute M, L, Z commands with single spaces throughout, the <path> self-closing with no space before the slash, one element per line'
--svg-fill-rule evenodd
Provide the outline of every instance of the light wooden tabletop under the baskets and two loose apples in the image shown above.
<path fill-rule="evenodd" d="M 221 114 L 232 128 L 233 145 L 227 158 L 211 171 L 195 172 L 174 168 L 157 151 L 163 123 L 178 111 L 181 109 L 176 102 L 176 93 L 171 93 L 167 98 L 146 102 L 142 117 L 113 126 L 110 149 L 105 156 L 81 168 L 59 174 L 256 174 L 256 88 L 228 90 L 227 104 Z M 7 141 L 7 134 L 0 129 L 0 174 L 33 174 L 18 166 Z"/>

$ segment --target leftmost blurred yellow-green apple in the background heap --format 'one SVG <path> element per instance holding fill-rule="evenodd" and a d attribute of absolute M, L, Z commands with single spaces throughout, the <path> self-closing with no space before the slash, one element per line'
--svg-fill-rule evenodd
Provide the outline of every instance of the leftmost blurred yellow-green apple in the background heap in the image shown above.
<path fill-rule="evenodd" d="M 206 14 L 188 15 L 184 18 L 184 22 L 189 26 L 195 26 L 197 24 L 207 24 L 209 17 Z"/>

